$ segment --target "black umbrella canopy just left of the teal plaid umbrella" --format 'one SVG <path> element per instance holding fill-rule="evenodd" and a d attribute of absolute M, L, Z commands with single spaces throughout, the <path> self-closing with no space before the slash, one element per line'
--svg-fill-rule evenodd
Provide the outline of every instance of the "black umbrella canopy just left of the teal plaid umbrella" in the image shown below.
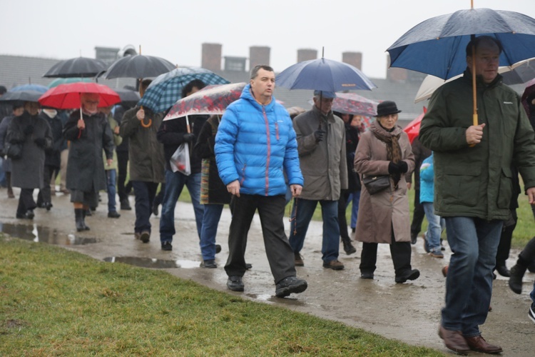
<path fill-rule="evenodd" d="M 176 66 L 166 59 L 156 56 L 136 54 L 113 62 L 106 71 L 105 79 L 156 77 L 175 69 Z"/>

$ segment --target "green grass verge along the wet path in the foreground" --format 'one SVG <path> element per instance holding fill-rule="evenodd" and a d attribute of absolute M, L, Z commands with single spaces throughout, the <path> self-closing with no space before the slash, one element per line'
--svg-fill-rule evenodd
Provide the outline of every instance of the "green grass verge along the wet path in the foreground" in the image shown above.
<path fill-rule="evenodd" d="M 442 356 L 342 323 L 0 235 L 1 356 Z"/>

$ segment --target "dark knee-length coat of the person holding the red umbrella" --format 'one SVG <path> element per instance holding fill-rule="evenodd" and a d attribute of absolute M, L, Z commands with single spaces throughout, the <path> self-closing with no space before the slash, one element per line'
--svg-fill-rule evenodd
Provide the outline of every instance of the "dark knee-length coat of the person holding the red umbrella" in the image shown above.
<path fill-rule="evenodd" d="M 71 141 L 68 149 L 67 188 L 71 191 L 106 189 L 102 150 L 106 159 L 113 159 L 113 135 L 106 115 L 83 114 L 86 128 L 78 129 L 80 112 L 73 111 L 63 129 L 63 137 Z"/>

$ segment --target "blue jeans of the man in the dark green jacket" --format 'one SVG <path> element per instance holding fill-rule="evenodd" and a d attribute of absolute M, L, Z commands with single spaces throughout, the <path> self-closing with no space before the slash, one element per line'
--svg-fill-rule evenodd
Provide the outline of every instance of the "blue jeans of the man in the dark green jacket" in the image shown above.
<path fill-rule="evenodd" d="M 492 271 L 503 221 L 472 217 L 446 217 L 446 233 L 452 258 L 446 278 L 446 305 L 442 326 L 479 336 L 492 295 Z"/>

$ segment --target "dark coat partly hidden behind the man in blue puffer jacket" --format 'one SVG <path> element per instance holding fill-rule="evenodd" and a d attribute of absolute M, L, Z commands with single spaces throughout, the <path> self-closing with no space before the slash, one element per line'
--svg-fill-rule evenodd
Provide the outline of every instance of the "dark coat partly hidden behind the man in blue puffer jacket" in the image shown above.
<path fill-rule="evenodd" d="M 230 193 L 219 177 L 218 165 L 215 162 L 215 134 L 218 134 L 220 120 L 220 116 L 210 116 L 200 129 L 197 144 L 193 149 L 202 160 L 200 180 L 200 203 L 202 204 L 230 203 Z"/>

